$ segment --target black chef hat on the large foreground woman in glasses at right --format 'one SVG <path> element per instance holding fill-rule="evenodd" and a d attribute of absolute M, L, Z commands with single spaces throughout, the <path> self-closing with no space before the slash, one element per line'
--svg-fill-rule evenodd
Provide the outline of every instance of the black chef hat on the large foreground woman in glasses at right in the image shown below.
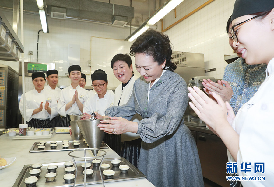
<path fill-rule="evenodd" d="M 273 8 L 273 0 L 236 0 L 231 21 L 243 15 L 265 12 Z"/>

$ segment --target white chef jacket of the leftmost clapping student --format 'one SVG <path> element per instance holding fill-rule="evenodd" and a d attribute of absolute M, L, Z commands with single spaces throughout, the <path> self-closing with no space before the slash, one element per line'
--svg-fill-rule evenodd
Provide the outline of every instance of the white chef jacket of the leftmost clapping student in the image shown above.
<path fill-rule="evenodd" d="M 43 90 L 41 90 L 41 93 L 38 93 L 37 90 L 33 89 L 26 92 L 25 96 L 26 121 L 30 121 L 33 118 L 39 120 L 46 120 L 49 118 L 51 120 L 52 118 L 58 115 L 57 100 L 55 98 L 55 95 L 47 89 L 44 88 Z M 51 114 L 49 114 L 47 110 L 45 110 L 46 101 L 49 102 Z M 39 108 L 41 102 L 43 102 L 43 110 L 41 112 L 38 112 L 37 114 L 32 115 L 33 110 Z M 21 96 L 19 102 L 19 110 L 23 116 L 23 95 Z"/>

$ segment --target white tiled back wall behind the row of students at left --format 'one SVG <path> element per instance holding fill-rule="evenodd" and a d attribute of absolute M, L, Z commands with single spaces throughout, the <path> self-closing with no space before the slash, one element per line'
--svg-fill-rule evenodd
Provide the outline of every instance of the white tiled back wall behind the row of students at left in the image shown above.
<path fill-rule="evenodd" d="M 12 12 L 4 11 L 5 16 L 12 23 Z M 106 71 L 109 87 L 117 87 L 119 82 L 110 66 L 111 59 L 117 53 L 129 53 L 131 43 L 124 41 L 130 34 L 128 28 L 100 25 L 76 20 L 52 19 L 48 16 L 49 33 L 39 33 L 38 62 L 55 63 L 59 76 L 68 73 L 68 45 L 80 45 L 80 66 L 82 73 L 86 74 L 87 84 L 91 85 L 90 75 L 97 69 Z M 38 15 L 24 14 L 24 48 L 25 61 L 36 62 L 37 34 L 41 29 Z M 18 31 L 20 36 L 20 25 Z M 106 39 L 107 38 L 107 39 Z M 33 51 L 33 55 L 28 55 Z M 21 60 L 21 59 L 20 59 Z M 88 66 L 91 60 L 92 67 Z M 134 63 L 134 57 L 132 57 Z M 18 71 L 18 62 L 0 61 Z M 135 68 L 135 65 L 133 65 Z M 134 69 L 135 74 L 139 73 Z M 59 78 L 59 85 L 69 85 L 70 79 Z"/>

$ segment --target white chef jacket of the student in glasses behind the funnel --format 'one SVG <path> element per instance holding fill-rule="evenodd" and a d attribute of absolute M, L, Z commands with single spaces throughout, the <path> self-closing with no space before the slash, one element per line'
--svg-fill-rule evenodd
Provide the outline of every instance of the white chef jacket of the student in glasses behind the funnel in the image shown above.
<path fill-rule="evenodd" d="M 114 104 L 114 93 L 112 90 L 107 90 L 104 98 L 99 99 L 98 94 L 94 91 L 88 91 L 86 94 L 88 99 L 84 104 L 83 112 L 91 114 L 97 111 L 100 115 L 105 115 L 105 110 Z"/>

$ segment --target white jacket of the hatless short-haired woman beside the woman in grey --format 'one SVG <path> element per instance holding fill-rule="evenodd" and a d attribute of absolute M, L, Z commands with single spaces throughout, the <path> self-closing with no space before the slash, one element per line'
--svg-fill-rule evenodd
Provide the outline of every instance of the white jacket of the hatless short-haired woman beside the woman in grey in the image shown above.
<path fill-rule="evenodd" d="M 135 80 L 137 80 L 139 77 L 137 75 L 134 75 L 133 77 L 130 78 L 128 84 L 122 89 L 122 84 L 119 84 L 119 86 L 115 89 L 115 96 L 114 96 L 114 106 L 117 106 L 119 103 L 119 106 L 126 104 L 128 102 L 129 97 L 132 94 L 133 90 L 133 84 Z M 139 114 L 135 114 L 131 121 L 133 122 L 139 122 L 142 119 L 142 117 Z M 122 142 L 124 141 L 131 141 L 131 140 L 136 140 L 140 138 L 139 134 L 132 133 L 132 132 L 126 132 L 121 134 L 121 140 Z"/>

